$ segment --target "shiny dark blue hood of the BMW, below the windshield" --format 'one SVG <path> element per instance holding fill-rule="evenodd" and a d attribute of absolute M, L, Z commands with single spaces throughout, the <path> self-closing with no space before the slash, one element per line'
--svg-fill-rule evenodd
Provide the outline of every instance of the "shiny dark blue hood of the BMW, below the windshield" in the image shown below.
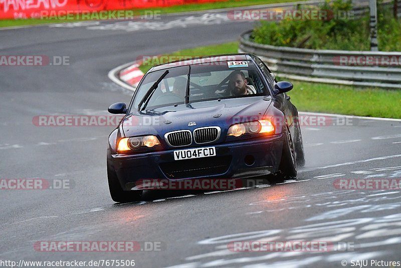
<path fill-rule="evenodd" d="M 203 126 L 228 128 L 233 123 L 260 119 L 271 104 L 266 96 L 201 101 L 161 107 L 147 112 L 134 111 L 121 122 L 125 137 L 156 135 Z"/>

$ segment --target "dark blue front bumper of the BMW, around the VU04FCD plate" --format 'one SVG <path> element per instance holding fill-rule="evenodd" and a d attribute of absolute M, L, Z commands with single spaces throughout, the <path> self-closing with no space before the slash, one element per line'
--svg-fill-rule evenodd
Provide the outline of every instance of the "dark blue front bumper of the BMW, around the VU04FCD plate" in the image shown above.
<path fill-rule="evenodd" d="M 216 156 L 193 160 L 174 160 L 173 152 L 188 148 L 138 154 L 108 155 L 109 168 L 115 171 L 122 189 L 135 188 L 140 180 L 183 180 L 192 178 L 243 179 L 278 171 L 283 135 L 241 140 L 215 147 Z"/>

